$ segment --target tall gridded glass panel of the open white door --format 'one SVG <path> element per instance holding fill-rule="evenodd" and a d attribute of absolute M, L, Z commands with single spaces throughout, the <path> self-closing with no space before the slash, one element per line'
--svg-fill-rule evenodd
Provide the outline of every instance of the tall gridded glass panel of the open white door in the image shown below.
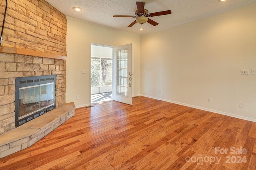
<path fill-rule="evenodd" d="M 116 94 L 128 97 L 128 50 L 122 49 L 116 52 L 117 58 L 117 78 L 116 78 Z"/>

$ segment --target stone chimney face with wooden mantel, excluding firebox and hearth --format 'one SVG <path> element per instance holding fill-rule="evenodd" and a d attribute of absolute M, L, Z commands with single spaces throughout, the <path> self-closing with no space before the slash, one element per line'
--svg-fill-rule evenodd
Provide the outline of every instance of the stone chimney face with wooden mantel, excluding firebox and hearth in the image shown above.
<path fill-rule="evenodd" d="M 0 8 L 1 25 L 3 17 Z M 17 77 L 56 75 L 56 107 L 66 103 L 66 23 L 44 0 L 8 0 L 0 49 L 0 135 L 15 128 Z"/>

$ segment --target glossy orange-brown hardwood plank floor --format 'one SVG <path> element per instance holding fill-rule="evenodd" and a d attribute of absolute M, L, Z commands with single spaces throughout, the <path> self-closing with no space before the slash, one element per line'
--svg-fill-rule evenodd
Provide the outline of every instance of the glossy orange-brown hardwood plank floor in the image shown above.
<path fill-rule="evenodd" d="M 256 169 L 256 123 L 141 96 L 133 103 L 76 109 L 0 169 Z"/>

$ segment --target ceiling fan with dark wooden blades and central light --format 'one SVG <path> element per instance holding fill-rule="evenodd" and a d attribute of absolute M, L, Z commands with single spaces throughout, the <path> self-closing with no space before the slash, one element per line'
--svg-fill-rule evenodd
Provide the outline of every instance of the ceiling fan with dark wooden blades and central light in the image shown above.
<path fill-rule="evenodd" d="M 157 22 L 149 19 L 148 17 L 154 17 L 154 16 L 163 16 L 163 15 L 167 15 L 167 14 L 172 14 L 171 10 L 167 10 L 167 11 L 161 11 L 161 12 L 154 12 L 151 14 L 148 14 L 148 10 L 146 10 L 144 8 L 145 6 L 145 2 L 136 2 L 137 5 L 137 9 L 135 11 L 135 16 L 113 16 L 113 17 L 132 17 L 132 18 L 136 18 L 135 21 L 133 21 L 128 27 L 132 27 L 136 22 L 140 23 L 141 25 L 148 22 L 151 25 L 158 25 Z"/>

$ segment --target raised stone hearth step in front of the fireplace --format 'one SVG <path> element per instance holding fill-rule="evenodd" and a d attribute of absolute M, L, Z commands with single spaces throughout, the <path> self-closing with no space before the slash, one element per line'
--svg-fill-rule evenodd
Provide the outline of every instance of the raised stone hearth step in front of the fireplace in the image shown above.
<path fill-rule="evenodd" d="M 0 135 L 0 158 L 30 147 L 74 115 L 74 103 L 64 104 Z"/>

